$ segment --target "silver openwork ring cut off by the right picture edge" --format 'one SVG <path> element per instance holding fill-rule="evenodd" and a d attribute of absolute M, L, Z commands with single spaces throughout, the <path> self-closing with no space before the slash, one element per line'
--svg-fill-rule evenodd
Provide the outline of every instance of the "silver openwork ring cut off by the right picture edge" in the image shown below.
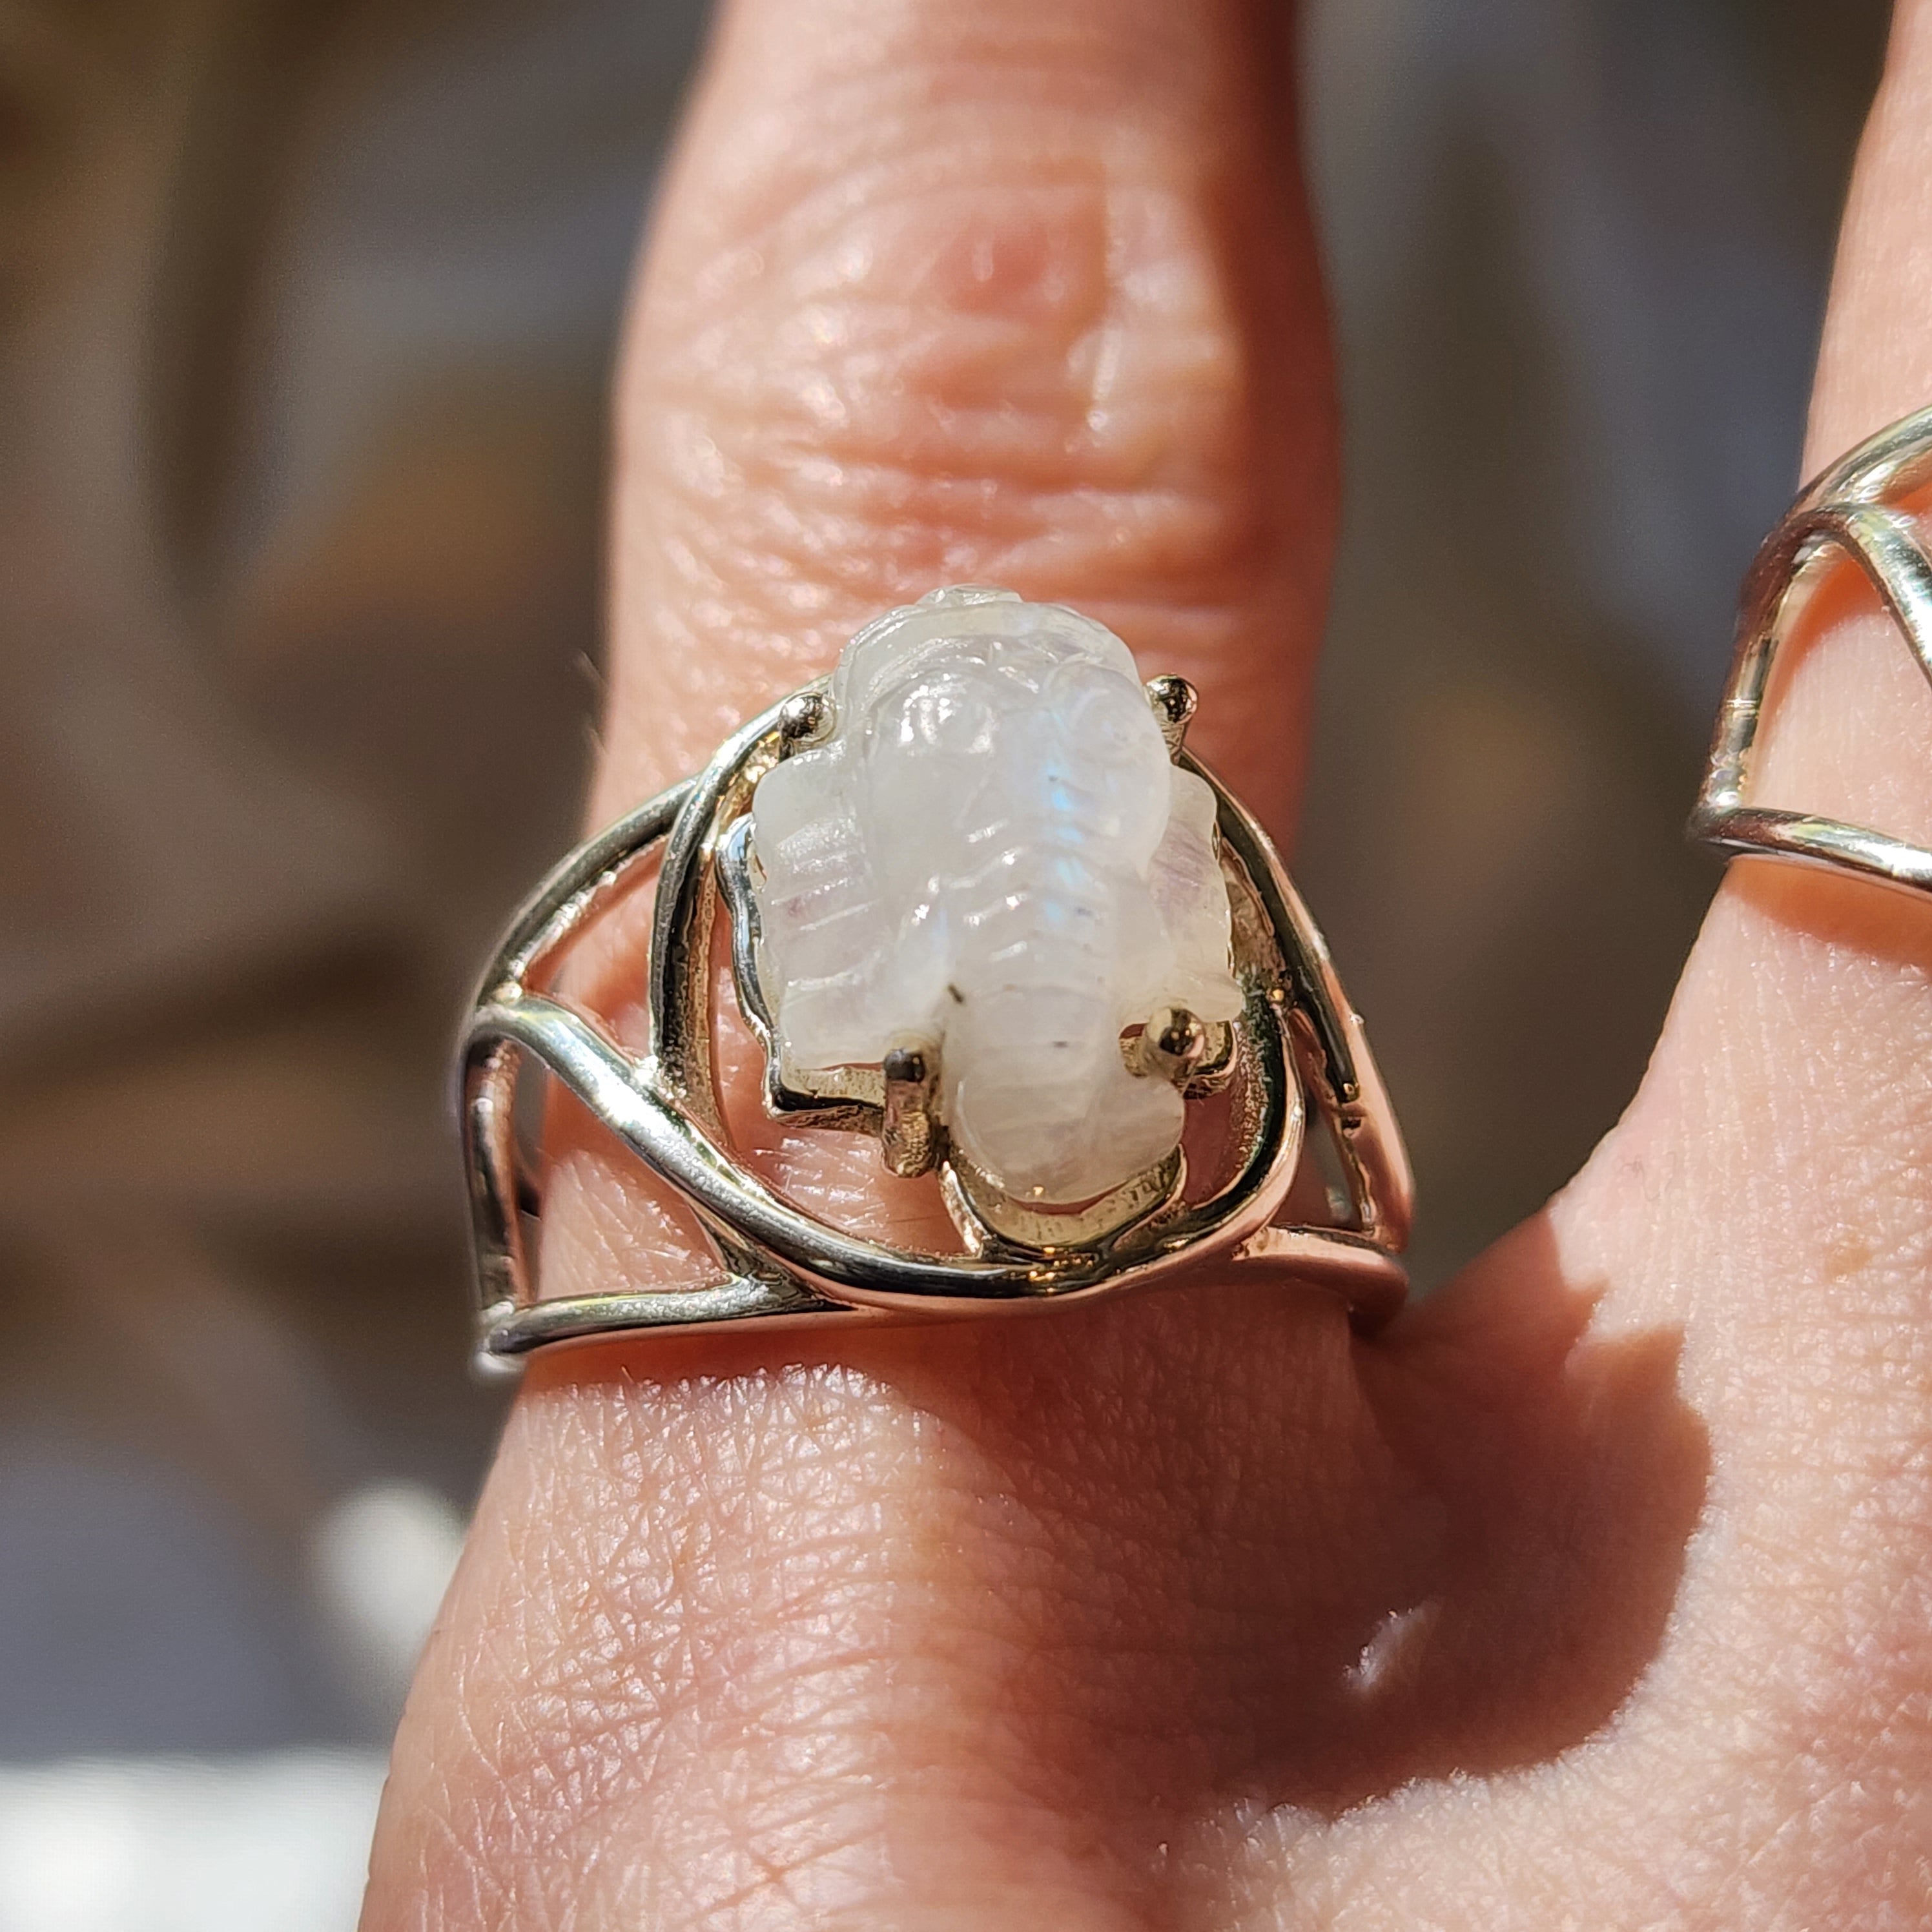
<path fill-rule="evenodd" d="M 1725 858 L 1781 858 L 1849 871 L 1874 885 L 1932 893 L 1924 846 L 1808 811 L 1774 811 L 1745 800 L 1750 753 L 1777 647 L 1799 593 L 1816 589 L 1839 558 L 1851 558 L 1897 624 L 1918 668 L 1932 680 L 1932 556 L 1901 498 L 1932 481 L 1932 410 L 1920 410 L 1861 442 L 1810 483 L 1764 539 L 1745 578 L 1737 655 L 1704 786 L 1689 837 Z"/>

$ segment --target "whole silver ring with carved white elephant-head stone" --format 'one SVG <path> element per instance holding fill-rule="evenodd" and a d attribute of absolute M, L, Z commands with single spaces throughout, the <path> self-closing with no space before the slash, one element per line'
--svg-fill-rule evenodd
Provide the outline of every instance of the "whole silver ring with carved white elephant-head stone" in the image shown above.
<path fill-rule="evenodd" d="M 1209 1265 L 1385 1321 L 1401 1132 L 1275 848 L 1186 750 L 1194 701 L 1074 611 L 935 591 L 572 852 L 460 1045 L 479 1364 L 641 1329 L 1010 1314 Z M 554 968 L 653 858 L 638 1055 Z M 937 1184 L 952 1252 L 842 1231 L 746 1163 L 728 1024 L 763 1051 L 769 1115 L 871 1136 L 889 1186 Z M 694 1209 L 713 1283 L 539 1296 L 533 1068 Z M 1291 1213 L 1308 1204 L 1325 1213 Z"/>

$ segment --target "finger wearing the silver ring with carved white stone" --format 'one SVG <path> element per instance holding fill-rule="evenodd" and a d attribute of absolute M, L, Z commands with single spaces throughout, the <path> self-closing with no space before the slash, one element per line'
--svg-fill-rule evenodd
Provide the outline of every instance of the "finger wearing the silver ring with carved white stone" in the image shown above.
<path fill-rule="evenodd" d="M 726 14 L 620 381 L 599 817 L 862 618 L 993 580 L 1194 678 L 1285 821 L 1331 431 L 1275 25 Z M 589 1142 L 545 1213 L 553 1285 L 678 1265 Z M 1339 1314 L 1294 1298 L 539 1364 L 367 1922 L 1130 1922 L 1383 1600 L 1383 1470 Z"/>

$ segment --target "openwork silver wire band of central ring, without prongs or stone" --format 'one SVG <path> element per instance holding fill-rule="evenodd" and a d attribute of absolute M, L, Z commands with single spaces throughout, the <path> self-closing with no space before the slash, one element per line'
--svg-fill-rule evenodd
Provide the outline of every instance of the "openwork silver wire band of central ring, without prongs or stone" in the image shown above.
<path fill-rule="evenodd" d="M 821 690 L 808 686 L 808 694 Z M 1192 696 L 1192 694 L 1190 694 Z M 844 1233 L 744 1167 L 728 1146 L 713 1068 L 711 935 L 721 896 L 732 923 L 738 1001 L 761 1032 L 748 906 L 734 891 L 757 779 L 786 752 L 796 696 L 732 736 L 697 777 L 572 852 L 518 912 L 469 1010 L 460 1113 L 469 1171 L 481 1368 L 531 1349 L 726 1323 L 858 1321 L 891 1314 L 983 1316 L 1169 1281 L 1215 1264 L 1227 1281 L 1300 1281 L 1341 1294 L 1360 1325 L 1401 1304 L 1410 1175 L 1362 1022 L 1267 837 L 1175 740 L 1217 810 L 1221 869 L 1235 916 L 1246 1065 L 1233 1173 L 1206 1200 L 1150 1196 L 1155 1211 L 1014 1242 L 966 1231 L 960 1254 L 925 1254 Z M 574 935 L 661 856 L 651 929 L 651 1051 L 634 1055 L 558 995 L 553 968 Z M 752 974 L 752 983 L 748 983 Z M 769 1045 L 769 1041 L 767 1041 Z M 518 1084 L 541 1066 L 696 1211 L 719 1262 L 701 1289 L 541 1298 L 529 1267 L 537 1196 L 518 1144 Z M 767 1082 L 767 1101 L 773 1082 Z M 1306 1144 L 1308 1113 L 1339 1153 L 1339 1225 L 1277 1225 Z M 881 1130 L 858 1099 L 819 1109 L 835 1128 Z M 956 1206 L 949 1198 L 949 1208 Z M 954 1219 L 960 1219 L 954 1213 Z"/>

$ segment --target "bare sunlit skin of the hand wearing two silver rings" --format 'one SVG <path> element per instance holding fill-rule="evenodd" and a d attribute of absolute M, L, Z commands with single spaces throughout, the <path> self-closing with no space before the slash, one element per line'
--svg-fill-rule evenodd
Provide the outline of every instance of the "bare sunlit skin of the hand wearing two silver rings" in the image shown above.
<path fill-rule="evenodd" d="M 726 10 L 618 384 L 595 821 L 978 580 L 1194 678 L 1287 835 L 1335 498 L 1289 99 L 1231 0 Z M 1928 317 L 1901 0 L 1808 468 L 1932 400 Z M 1853 589 L 1799 643 L 1760 798 L 1932 840 L 1932 692 Z M 1932 912 L 1741 864 L 1582 1175 L 1378 1341 L 1200 1287 L 539 1358 L 365 1932 L 1922 1926 L 1928 1068 Z M 568 1117 L 547 1223 L 554 1291 L 690 1279 Z"/>

